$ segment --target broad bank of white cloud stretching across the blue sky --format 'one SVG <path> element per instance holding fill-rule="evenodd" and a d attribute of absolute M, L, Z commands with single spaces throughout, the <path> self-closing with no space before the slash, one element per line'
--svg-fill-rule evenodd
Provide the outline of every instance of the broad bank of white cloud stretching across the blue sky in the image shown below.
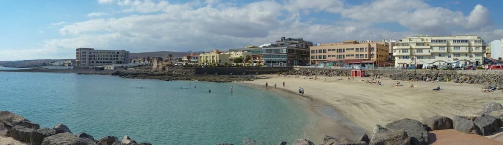
<path fill-rule="evenodd" d="M 503 29 L 495 29 L 489 11 L 481 5 L 474 6 L 470 14 L 463 14 L 432 7 L 420 0 L 378 0 L 360 5 L 344 2 L 285 0 L 232 4 L 218 0 L 189 3 L 98 0 L 99 4 L 115 7 L 114 13 L 91 13 L 87 21 L 51 24 L 61 26 L 59 33 L 63 38 L 46 41 L 40 51 L 34 51 L 39 54 L 27 52 L 26 58 L 54 56 L 45 52 L 71 58 L 78 47 L 131 52 L 226 50 L 274 43 L 281 36 L 329 43 L 400 39 L 418 34 L 473 34 L 492 40 L 503 33 Z M 115 12 L 122 13 L 112 15 Z M 304 18 L 312 12 L 340 15 L 342 20 L 330 20 L 331 16 L 326 20 Z M 96 18 L 103 15 L 111 17 Z M 381 23 L 395 23 L 407 30 L 394 32 L 373 27 Z M 0 52 L 0 57 L 6 55 L 4 52 Z"/>

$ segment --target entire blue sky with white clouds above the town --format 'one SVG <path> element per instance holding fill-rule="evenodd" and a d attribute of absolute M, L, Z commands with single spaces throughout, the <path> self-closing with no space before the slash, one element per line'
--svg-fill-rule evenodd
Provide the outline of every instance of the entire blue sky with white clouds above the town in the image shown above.
<path fill-rule="evenodd" d="M 228 50 L 419 35 L 503 38 L 502 1 L 0 1 L 0 61 L 74 59 L 76 48 Z"/>

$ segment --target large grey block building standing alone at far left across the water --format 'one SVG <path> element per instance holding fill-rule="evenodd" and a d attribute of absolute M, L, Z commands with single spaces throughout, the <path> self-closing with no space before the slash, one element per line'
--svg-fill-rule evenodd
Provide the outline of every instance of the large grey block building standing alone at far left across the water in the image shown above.
<path fill-rule="evenodd" d="M 95 50 L 93 48 L 77 48 L 75 53 L 76 67 L 94 67 L 128 63 L 129 51 L 125 50 Z"/>

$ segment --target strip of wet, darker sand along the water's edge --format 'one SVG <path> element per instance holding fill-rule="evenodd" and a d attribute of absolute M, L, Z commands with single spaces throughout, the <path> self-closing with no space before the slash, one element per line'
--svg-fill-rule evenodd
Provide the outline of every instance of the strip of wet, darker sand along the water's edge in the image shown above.
<path fill-rule="evenodd" d="M 340 136 L 344 138 L 357 139 L 364 133 L 369 134 L 363 128 L 358 127 L 348 118 L 344 117 L 336 108 L 333 108 L 329 103 L 311 97 L 309 95 L 299 96 L 296 92 L 288 89 L 283 89 L 282 86 L 269 86 L 266 90 L 263 85 L 249 83 L 253 81 L 238 82 L 241 85 L 248 86 L 251 89 L 258 89 L 277 94 L 286 99 L 290 99 L 305 109 L 309 115 L 309 124 L 304 126 L 304 137 L 313 142 L 323 142 L 325 135 Z"/>

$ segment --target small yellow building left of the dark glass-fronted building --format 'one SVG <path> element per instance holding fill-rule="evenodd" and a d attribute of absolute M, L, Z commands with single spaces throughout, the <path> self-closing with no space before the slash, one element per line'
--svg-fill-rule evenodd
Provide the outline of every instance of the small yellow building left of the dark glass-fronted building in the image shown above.
<path fill-rule="evenodd" d="M 217 49 L 212 52 L 199 54 L 199 65 L 225 65 L 225 63 L 231 64 L 230 55 L 224 54 Z"/>

